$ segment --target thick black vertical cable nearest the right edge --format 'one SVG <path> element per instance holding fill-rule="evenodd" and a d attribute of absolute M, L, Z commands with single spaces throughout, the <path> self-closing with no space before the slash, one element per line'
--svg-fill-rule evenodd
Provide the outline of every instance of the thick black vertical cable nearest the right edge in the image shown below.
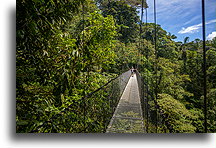
<path fill-rule="evenodd" d="M 206 33 L 205 33 L 205 0 L 202 0 L 202 32 L 203 32 L 203 93 L 204 93 L 204 131 L 207 129 L 207 90 L 206 90 Z"/>

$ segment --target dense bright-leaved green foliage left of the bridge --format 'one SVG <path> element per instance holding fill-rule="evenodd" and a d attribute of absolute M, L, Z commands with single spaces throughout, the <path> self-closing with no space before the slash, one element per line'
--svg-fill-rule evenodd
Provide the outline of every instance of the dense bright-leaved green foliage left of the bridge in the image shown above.
<path fill-rule="evenodd" d="M 115 76 L 105 72 L 114 63 L 114 19 L 86 9 L 83 20 L 82 2 L 18 2 L 17 132 L 42 124 L 38 132 L 82 132 L 81 98 Z M 91 1 L 86 4 L 92 7 Z M 109 109 L 105 102 L 95 102 L 98 114 L 102 106 Z M 71 111 L 59 116 L 68 106 Z M 103 122 L 98 120 L 92 130 L 104 129 Z"/>

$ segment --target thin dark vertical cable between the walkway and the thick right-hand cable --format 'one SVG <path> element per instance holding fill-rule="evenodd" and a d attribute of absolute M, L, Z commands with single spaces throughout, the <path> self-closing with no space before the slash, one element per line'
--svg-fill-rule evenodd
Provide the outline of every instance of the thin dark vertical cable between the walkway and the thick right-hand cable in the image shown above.
<path fill-rule="evenodd" d="M 158 53 L 157 53 L 157 22 L 156 22 L 157 18 L 156 18 L 156 0 L 154 0 L 154 45 L 155 45 L 155 56 L 156 56 L 156 60 L 158 59 Z M 156 79 L 157 79 L 157 61 L 155 62 L 155 75 L 156 75 Z M 156 133 L 158 132 L 158 109 L 157 109 L 157 95 L 158 95 L 158 88 L 157 88 L 157 81 L 156 81 L 156 85 L 155 85 L 155 102 L 156 102 Z"/>

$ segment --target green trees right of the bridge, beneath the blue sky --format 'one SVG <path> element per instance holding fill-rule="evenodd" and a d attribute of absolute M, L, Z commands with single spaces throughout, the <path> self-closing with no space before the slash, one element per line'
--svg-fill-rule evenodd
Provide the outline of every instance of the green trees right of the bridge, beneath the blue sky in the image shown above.
<path fill-rule="evenodd" d="M 143 38 L 154 45 L 154 24 L 143 25 Z M 156 116 L 155 103 L 153 100 L 158 99 L 159 94 L 167 94 L 178 100 L 183 107 L 191 112 L 190 125 L 188 123 L 178 121 L 179 128 L 187 129 L 188 132 L 203 132 L 203 71 L 202 71 L 202 41 L 196 39 L 189 42 L 189 37 L 185 38 L 184 43 L 172 41 L 172 35 L 167 34 L 159 25 L 157 25 L 157 51 L 154 51 L 154 46 L 145 46 L 142 52 L 146 60 L 144 61 L 143 73 L 145 80 L 149 85 L 149 93 L 151 94 L 150 107 L 152 109 L 152 119 L 150 120 L 150 132 L 155 132 Z M 212 44 L 213 43 L 213 44 Z M 208 41 L 207 45 L 207 92 L 215 88 L 215 48 L 214 41 Z M 208 96 L 209 98 L 209 96 Z M 211 97 L 210 97 L 211 98 Z M 211 99 L 210 99 L 211 100 Z M 209 107 L 209 132 L 214 131 L 215 113 L 213 103 L 208 102 Z M 166 107 L 165 105 L 164 107 Z M 211 109 L 210 109 L 211 108 Z M 159 111 L 160 112 L 160 109 Z M 170 110 L 175 112 L 175 110 Z M 210 117 L 211 116 L 211 117 Z M 161 117 L 163 118 L 163 117 Z M 183 120 L 184 118 L 180 116 Z M 175 119 L 173 119 L 175 120 Z M 160 132 L 168 132 L 164 129 L 164 124 L 161 125 Z M 184 125 L 184 126 L 183 126 Z M 177 132 L 177 131 L 169 131 Z M 179 132 L 179 131 L 178 131 Z M 183 132 L 183 131 L 181 131 Z"/>

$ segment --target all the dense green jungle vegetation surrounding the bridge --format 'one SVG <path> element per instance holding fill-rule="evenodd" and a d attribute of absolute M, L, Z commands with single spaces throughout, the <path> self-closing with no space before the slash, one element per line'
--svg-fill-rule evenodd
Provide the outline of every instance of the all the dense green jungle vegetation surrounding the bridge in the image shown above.
<path fill-rule="evenodd" d="M 37 132 L 100 132 L 106 102 L 96 98 L 98 114 L 83 119 L 81 98 L 132 66 L 157 98 L 167 132 L 203 132 L 202 40 L 176 42 L 157 24 L 155 50 L 155 24 L 142 23 L 140 34 L 140 4 L 17 1 L 16 132 L 31 132 L 44 122 L 46 128 Z M 215 132 L 216 38 L 206 46 L 208 131 Z M 52 118 L 68 106 L 70 112 Z M 83 120 L 91 123 L 87 131 L 81 130 Z"/>

